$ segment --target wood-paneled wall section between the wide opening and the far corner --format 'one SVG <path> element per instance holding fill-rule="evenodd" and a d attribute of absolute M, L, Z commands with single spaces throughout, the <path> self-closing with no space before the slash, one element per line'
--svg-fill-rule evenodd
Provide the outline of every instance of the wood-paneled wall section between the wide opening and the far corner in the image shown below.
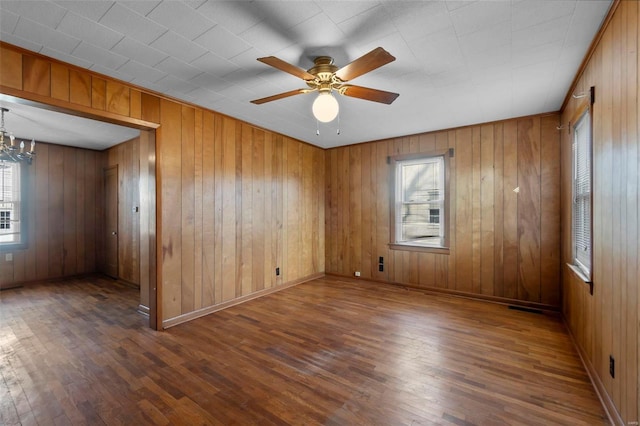
<path fill-rule="evenodd" d="M 169 100 L 161 114 L 165 318 L 324 271 L 322 150 Z"/>

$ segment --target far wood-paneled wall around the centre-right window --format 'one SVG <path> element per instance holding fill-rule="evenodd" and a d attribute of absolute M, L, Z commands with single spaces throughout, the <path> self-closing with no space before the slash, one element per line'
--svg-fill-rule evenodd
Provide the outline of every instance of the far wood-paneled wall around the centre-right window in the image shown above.
<path fill-rule="evenodd" d="M 558 120 L 524 117 L 327 150 L 326 272 L 558 308 Z M 450 252 L 390 250 L 387 157 L 447 148 Z"/>

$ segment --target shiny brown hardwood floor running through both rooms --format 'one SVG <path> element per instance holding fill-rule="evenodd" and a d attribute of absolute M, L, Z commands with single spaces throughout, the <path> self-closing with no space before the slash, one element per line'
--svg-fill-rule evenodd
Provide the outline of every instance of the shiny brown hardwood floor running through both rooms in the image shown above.
<path fill-rule="evenodd" d="M 0 293 L 0 424 L 608 424 L 559 318 L 327 278 L 155 332 L 100 277 Z"/>

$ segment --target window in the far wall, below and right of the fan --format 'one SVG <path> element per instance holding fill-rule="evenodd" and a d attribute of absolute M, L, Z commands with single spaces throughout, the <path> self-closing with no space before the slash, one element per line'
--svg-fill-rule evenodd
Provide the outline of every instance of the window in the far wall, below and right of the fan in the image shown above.
<path fill-rule="evenodd" d="M 393 206 L 391 248 L 447 248 L 447 159 L 445 153 L 391 158 Z"/>

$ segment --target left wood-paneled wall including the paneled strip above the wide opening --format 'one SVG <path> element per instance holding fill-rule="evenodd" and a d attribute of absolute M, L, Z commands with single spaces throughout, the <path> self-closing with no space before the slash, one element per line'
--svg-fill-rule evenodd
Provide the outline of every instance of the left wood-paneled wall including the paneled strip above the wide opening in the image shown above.
<path fill-rule="evenodd" d="M 156 129 L 160 327 L 324 271 L 321 149 L 3 42 L 0 67 L 4 95 Z"/>

